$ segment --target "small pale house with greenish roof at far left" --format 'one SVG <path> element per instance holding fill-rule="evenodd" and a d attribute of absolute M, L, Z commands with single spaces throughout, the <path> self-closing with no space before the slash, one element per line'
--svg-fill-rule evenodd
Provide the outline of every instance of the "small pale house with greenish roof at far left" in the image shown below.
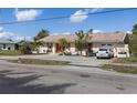
<path fill-rule="evenodd" d="M 10 40 L 0 40 L 0 50 L 15 50 L 15 43 Z"/>

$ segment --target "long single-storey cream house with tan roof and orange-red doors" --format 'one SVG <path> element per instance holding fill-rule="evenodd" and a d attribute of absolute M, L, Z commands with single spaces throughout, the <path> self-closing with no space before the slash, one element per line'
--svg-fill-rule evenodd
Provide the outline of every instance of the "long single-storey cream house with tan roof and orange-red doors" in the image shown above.
<path fill-rule="evenodd" d="M 112 32 L 112 33 L 89 33 L 92 37 L 88 41 L 87 50 L 92 50 L 93 52 L 97 52 L 102 47 L 110 47 L 114 51 L 114 55 L 117 56 L 118 53 L 126 53 L 129 56 L 128 49 L 128 35 L 124 32 Z M 45 47 L 40 48 L 40 53 L 46 52 L 49 49 L 52 53 L 62 52 L 62 47 L 59 44 L 59 40 L 65 38 L 70 43 L 68 49 L 71 52 L 76 52 L 75 40 L 77 37 L 75 34 L 72 35 L 49 35 L 46 38 L 41 39 L 46 44 Z"/>

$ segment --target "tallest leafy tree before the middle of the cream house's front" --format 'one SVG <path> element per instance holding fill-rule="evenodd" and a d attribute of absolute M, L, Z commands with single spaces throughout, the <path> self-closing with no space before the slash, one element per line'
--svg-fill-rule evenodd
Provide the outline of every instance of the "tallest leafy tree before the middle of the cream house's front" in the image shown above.
<path fill-rule="evenodd" d="M 78 32 L 75 32 L 77 40 L 75 40 L 75 47 L 78 51 L 81 51 L 81 55 L 82 55 L 82 51 L 87 49 L 88 47 L 88 40 L 91 39 L 88 33 L 84 33 L 82 30 Z"/>

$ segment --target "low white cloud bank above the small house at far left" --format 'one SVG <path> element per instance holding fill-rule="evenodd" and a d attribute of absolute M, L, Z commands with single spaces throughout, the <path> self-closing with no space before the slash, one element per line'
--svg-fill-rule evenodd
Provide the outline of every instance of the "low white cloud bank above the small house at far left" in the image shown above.
<path fill-rule="evenodd" d="M 13 41 L 24 40 L 23 35 L 18 35 L 12 32 L 4 31 L 2 27 L 0 27 L 0 40 L 11 39 Z M 32 40 L 32 37 L 25 37 L 27 40 Z"/>

